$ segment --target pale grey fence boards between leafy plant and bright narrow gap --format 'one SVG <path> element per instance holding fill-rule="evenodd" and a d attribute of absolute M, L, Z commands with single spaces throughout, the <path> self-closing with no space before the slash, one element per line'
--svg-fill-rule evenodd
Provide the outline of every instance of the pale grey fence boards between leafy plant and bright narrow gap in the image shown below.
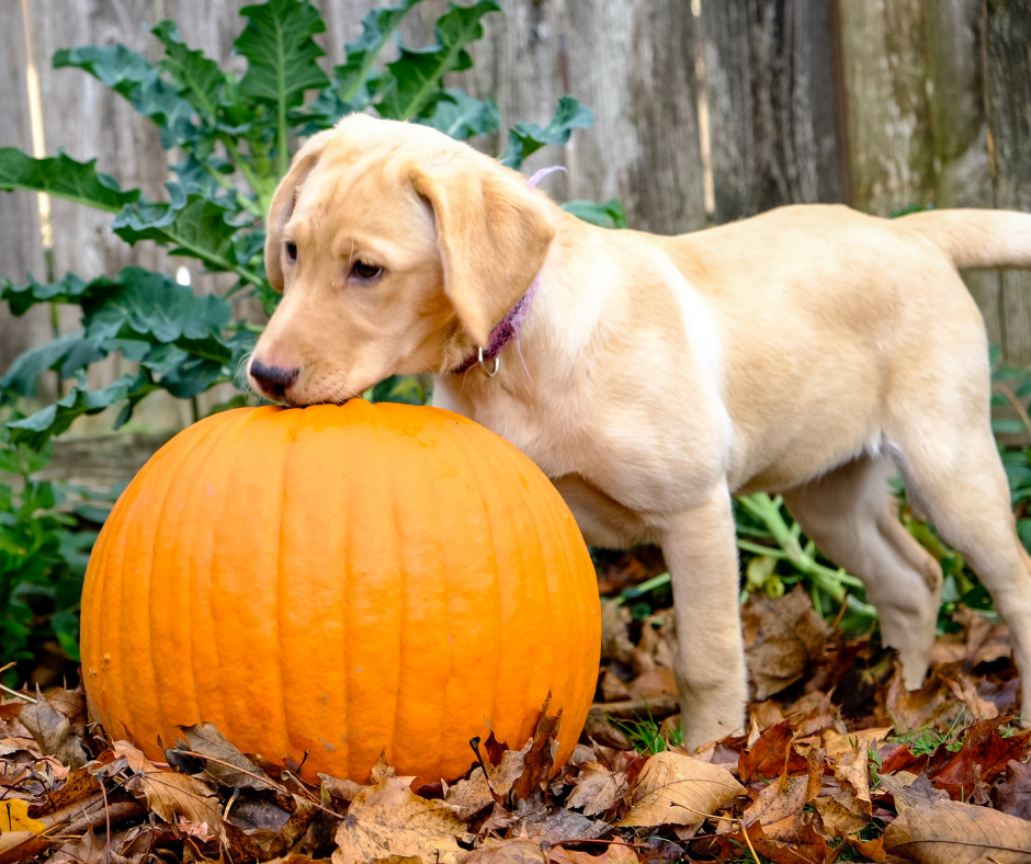
<path fill-rule="evenodd" d="M 548 147 L 526 171 L 548 178 L 558 200 L 619 197 L 630 224 L 677 234 L 705 224 L 694 78 L 694 19 L 684 0 L 501 0 L 485 20 L 466 73 L 477 95 L 498 100 L 502 129 L 545 124 L 564 92 L 594 113 L 563 151 Z M 431 10 L 427 5 L 424 12 Z M 496 147 L 500 151 L 505 139 Z"/>

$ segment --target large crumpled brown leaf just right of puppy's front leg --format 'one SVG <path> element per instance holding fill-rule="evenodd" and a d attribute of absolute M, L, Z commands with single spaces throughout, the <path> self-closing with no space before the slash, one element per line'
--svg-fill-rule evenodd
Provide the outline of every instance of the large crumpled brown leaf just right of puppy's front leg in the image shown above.
<path fill-rule="evenodd" d="M 756 700 L 793 684 L 827 644 L 827 625 L 798 586 L 783 596 L 754 596 L 741 610 L 745 658 Z"/>

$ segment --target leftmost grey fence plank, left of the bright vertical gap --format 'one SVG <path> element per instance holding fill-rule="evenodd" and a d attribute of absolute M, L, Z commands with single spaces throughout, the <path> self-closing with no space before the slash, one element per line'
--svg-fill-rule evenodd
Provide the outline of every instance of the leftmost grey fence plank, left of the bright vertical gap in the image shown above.
<path fill-rule="evenodd" d="M 15 0 L 7 0 L 0 3 L 0 69 L 4 80 L 0 88 L 0 147 L 21 147 L 31 152 L 26 67 L 21 7 Z M 29 273 L 46 277 L 36 196 L 27 192 L 0 193 L 0 278 L 22 282 Z M 0 308 L 0 374 L 22 351 L 46 341 L 49 332 L 45 309 L 14 318 L 5 306 Z"/>

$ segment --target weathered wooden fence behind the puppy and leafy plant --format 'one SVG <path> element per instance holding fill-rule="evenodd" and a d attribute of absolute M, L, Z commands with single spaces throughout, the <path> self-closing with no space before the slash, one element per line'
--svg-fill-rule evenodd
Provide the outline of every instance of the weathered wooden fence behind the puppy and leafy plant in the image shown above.
<path fill-rule="evenodd" d="M 159 197 L 167 155 L 148 124 L 84 73 L 53 69 L 49 58 L 58 48 L 114 42 L 154 56 L 144 27 L 172 18 L 190 45 L 231 62 L 246 2 L 0 0 L 0 145 L 32 148 L 26 73 L 34 68 L 47 152 L 95 156 L 123 185 Z M 316 0 L 329 62 L 342 59 L 365 11 L 384 2 Z M 545 122 L 563 92 L 593 109 L 593 128 L 528 166 L 568 167 L 551 181 L 557 197 L 620 197 L 634 227 L 661 232 L 791 202 L 845 201 L 882 215 L 915 204 L 1031 211 L 1031 0 L 501 5 L 502 15 L 486 20 L 474 68 L 454 83 L 496 98 L 502 128 Z M 444 7 L 417 7 L 405 38 L 428 42 Z M 195 285 L 219 289 L 195 262 L 170 260 L 150 243 L 129 249 L 106 223 L 54 201 L 54 272 L 113 274 L 129 263 L 174 272 L 185 263 Z M 34 196 L 0 195 L 0 275 L 45 273 L 38 225 Z M 1031 363 L 1031 274 L 978 273 L 968 284 L 1006 359 Z M 52 327 L 43 314 L 0 318 L 0 366 Z M 117 374 L 110 361 L 93 384 Z M 170 399 L 148 403 L 145 425 L 186 419 Z"/>

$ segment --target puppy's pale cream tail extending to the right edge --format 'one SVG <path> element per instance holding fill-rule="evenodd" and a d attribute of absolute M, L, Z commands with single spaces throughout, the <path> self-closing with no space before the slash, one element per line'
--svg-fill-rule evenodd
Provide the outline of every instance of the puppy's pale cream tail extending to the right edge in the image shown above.
<path fill-rule="evenodd" d="M 898 223 L 922 234 L 964 268 L 1031 269 L 1031 214 L 1013 211 L 922 211 Z"/>

